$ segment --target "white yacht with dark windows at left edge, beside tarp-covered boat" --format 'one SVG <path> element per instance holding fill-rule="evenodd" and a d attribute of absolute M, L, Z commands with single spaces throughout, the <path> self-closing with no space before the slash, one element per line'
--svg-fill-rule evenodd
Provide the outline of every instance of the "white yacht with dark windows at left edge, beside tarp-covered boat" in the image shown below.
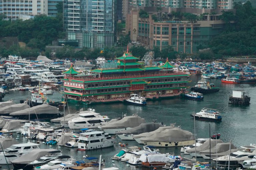
<path fill-rule="evenodd" d="M 0 152 L 0 164 L 10 164 L 12 160 L 31 152 L 33 149 L 40 149 L 39 146 L 40 144 L 36 143 L 14 144 Z"/>

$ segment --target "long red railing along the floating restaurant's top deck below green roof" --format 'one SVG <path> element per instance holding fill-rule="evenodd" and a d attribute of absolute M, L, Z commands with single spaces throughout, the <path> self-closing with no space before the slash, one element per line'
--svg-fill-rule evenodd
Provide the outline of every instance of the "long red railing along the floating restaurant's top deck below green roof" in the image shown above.
<path fill-rule="evenodd" d="M 171 72 L 171 73 L 160 73 L 160 74 L 145 74 L 145 75 L 128 75 L 128 76 L 113 76 L 113 77 L 101 77 L 101 78 L 74 78 L 74 77 L 65 77 L 69 80 L 78 80 L 78 81 L 96 81 L 96 80 L 110 80 L 110 79 L 125 79 L 125 78 L 140 78 L 140 77 L 155 77 L 155 76 L 169 76 L 169 75 L 186 75 L 186 72 Z"/>

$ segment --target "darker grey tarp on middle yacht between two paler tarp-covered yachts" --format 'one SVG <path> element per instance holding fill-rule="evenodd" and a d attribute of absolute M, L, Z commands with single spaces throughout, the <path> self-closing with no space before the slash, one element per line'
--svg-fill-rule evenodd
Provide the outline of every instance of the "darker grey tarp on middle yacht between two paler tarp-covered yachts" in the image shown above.
<path fill-rule="evenodd" d="M 118 131 L 118 132 L 116 132 L 116 134 L 140 134 L 140 133 L 144 133 L 144 132 L 154 131 L 154 130 L 158 129 L 159 127 L 162 127 L 162 125 L 159 125 L 156 123 L 142 123 L 135 128 Z"/>

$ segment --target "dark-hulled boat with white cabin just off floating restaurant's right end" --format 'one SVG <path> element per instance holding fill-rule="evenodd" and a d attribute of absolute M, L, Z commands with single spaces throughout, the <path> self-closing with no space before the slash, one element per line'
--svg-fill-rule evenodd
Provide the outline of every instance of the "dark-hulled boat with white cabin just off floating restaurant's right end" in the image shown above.
<path fill-rule="evenodd" d="M 199 92 L 199 93 L 213 93 L 220 91 L 219 87 L 215 87 L 214 83 L 205 82 L 205 81 L 199 81 L 197 82 L 197 85 L 191 88 L 191 91 L 193 92 Z"/>

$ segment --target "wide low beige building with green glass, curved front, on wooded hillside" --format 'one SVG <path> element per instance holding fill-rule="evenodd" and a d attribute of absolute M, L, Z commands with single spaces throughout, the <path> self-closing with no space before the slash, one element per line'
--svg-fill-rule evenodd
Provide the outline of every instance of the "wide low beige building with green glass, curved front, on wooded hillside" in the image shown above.
<path fill-rule="evenodd" d="M 151 8 L 150 8 L 151 9 Z M 146 8 L 144 8 L 146 10 Z M 181 12 L 195 13 L 199 9 L 179 9 Z M 176 9 L 178 11 L 178 9 Z M 216 15 L 210 13 L 218 12 Z M 202 15 L 203 13 L 209 13 Z M 220 20 L 220 10 L 201 10 L 201 19 L 197 21 L 172 21 L 172 19 L 156 22 L 149 18 L 140 18 L 138 10 L 127 15 L 126 32 L 131 32 L 132 41 L 139 41 L 151 49 L 159 46 L 160 50 L 167 45 L 181 53 L 194 53 L 200 45 L 208 45 L 209 41 L 224 31 L 225 22 Z M 128 23 L 129 22 L 129 23 Z"/>

